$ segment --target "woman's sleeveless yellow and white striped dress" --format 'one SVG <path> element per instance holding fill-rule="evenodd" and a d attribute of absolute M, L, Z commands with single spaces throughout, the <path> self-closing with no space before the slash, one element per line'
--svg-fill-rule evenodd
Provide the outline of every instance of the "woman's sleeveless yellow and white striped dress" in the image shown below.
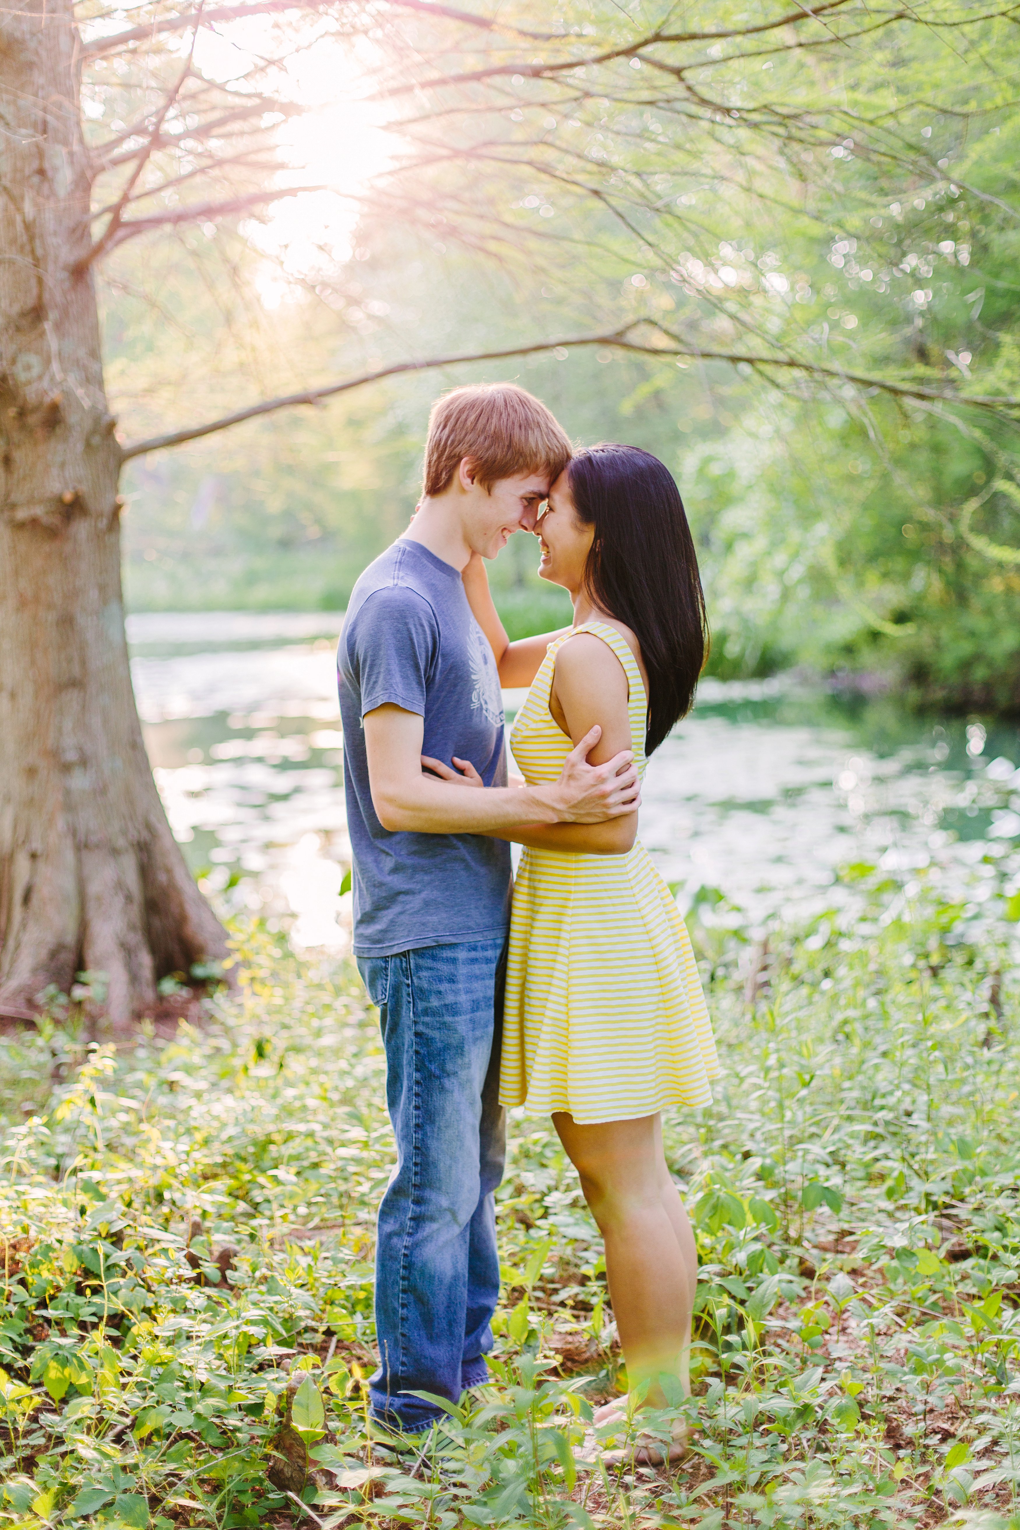
<path fill-rule="evenodd" d="M 573 747 L 549 711 L 557 650 L 607 643 L 630 684 L 630 737 L 645 768 L 647 699 L 630 646 L 589 621 L 549 646 L 511 731 L 529 785 L 555 780 Z M 641 842 L 625 855 L 525 849 L 514 886 L 500 1102 L 567 1111 L 578 1125 L 708 1105 L 719 1077 L 691 942 Z"/>

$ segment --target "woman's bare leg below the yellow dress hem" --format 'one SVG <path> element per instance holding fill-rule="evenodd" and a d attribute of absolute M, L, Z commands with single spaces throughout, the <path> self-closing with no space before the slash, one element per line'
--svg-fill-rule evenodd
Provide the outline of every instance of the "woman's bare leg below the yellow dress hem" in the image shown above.
<path fill-rule="evenodd" d="M 687 1389 L 697 1259 L 662 1157 L 659 1117 L 578 1126 L 557 1112 L 552 1121 L 606 1239 L 606 1274 L 630 1389 L 647 1382 L 648 1405 L 661 1408 L 664 1371 Z"/>

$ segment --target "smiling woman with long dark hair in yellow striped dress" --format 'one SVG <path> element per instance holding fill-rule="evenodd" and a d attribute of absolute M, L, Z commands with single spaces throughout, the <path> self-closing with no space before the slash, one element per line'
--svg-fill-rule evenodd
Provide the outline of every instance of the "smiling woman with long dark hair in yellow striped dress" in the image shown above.
<path fill-rule="evenodd" d="M 684 505 L 668 470 L 636 447 L 581 451 L 549 493 L 538 572 L 570 592 L 573 626 L 509 643 L 485 566 L 468 600 L 503 685 L 531 684 L 511 747 L 529 783 L 555 780 L 593 725 L 593 763 L 632 748 L 639 770 L 693 701 L 705 606 Z M 456 776 L 473 777 L 454 762 Z M 662 1152 L 661 1111 L 707 1105 L 719 1076 L 690 939 L 635 840 L 638 814 L 529 828 L 514 889 L 500 1100 L 552 1112 L 606 1239 L 613 1316 L 636 1401 L 688 1391 L 697 1255 Z M 673 1391 L 673 1388 L 668 1388 Z M 625 1414 L 610 1403 L 609 1423 Z M 671 1457 L 684 1452 L 677 1437 Z M 638 1455 L 655 1461 L 651 1441 Z"/>

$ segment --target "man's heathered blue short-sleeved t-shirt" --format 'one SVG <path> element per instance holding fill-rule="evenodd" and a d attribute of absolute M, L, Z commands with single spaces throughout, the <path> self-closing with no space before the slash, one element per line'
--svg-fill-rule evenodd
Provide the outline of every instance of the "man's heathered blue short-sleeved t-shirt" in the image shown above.
<path fill-rule="evenodd" d="M 344 793 L 353 851 L 355 955 L 391 956 L 506 932 L 511 851 L 479 834 L 384 829 L 372 806 L 361 719 L 393 702 L 425 719 L 424 754 L 468 759 L 506 785 L 495 659 L 456 568 L 395 542 L 355 584 L 336 655 Z"/>

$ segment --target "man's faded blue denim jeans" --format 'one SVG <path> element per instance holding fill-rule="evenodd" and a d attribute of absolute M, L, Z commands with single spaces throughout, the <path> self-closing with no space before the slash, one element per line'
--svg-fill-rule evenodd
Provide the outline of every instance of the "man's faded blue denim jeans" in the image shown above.
<path fill-rule="evenodd" d="M 379 1010 L 396 1135 L 396 1169 L 379 1206 L 372 1412 L 416 1432 L 442 1412 L 408 1392 L 456 1403 L 488 1375 L 500 1287 L 492 1192 L 506 1155 L 499 1103 L 506 942 L 361 956 L 358 968 Z"/>

